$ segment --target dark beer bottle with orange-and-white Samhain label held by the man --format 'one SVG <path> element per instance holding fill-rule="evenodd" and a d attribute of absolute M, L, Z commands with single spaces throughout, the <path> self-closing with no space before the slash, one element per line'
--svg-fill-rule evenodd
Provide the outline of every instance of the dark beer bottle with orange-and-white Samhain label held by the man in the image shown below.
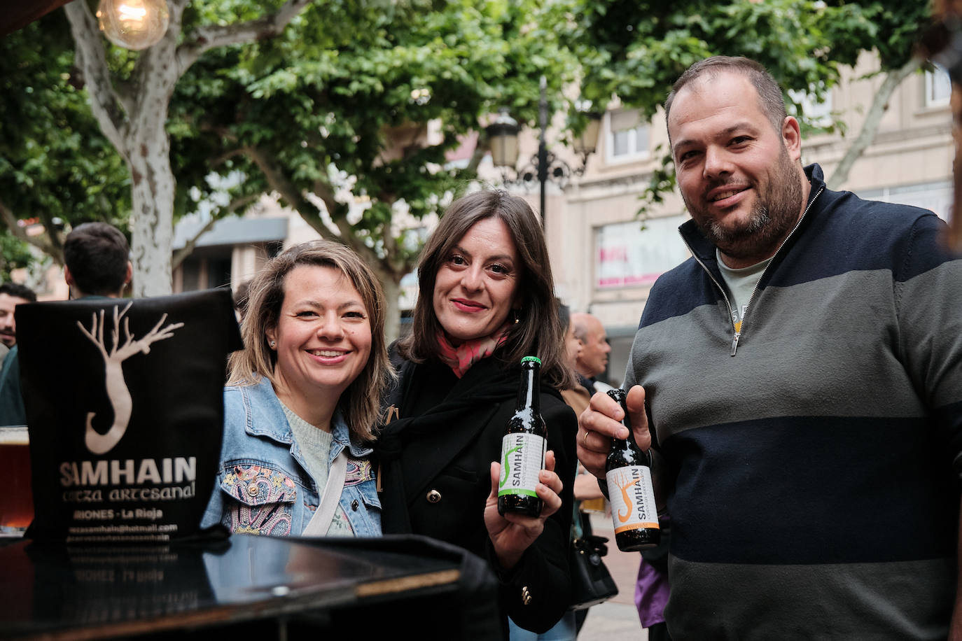
<path fill-rule="evenodd" d="M 611 439 L 611 452 L 605 461 L 605 480 L 611 518 L 615 523 L 615 542 L 622 552 L 635 552 L 658 545 L 661 530 L 655 493 L 651 486 L 651 454 L 642 452 L 635 444 L 631 419 L 625 405 L 623 389 L 609 389 L 608 396 L 618 401 L 624 418 L 621 424 L 628 429 L 628 437 Z"/>

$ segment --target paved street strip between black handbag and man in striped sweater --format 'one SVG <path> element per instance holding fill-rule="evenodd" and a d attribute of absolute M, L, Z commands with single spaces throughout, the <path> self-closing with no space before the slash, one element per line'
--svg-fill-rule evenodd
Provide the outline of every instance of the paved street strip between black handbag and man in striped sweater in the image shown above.
<path fill-rule="evenodd" d="M 647 639 L 648 634 L 638 622 L 635 610 L 635 577 L 638 573 L 637 552 L 621 552 L 615 545 L 611 516 L 592 514 L 592 529 L 599 536 L 608 537 L 608 555 L 604 557 L 608 571 L 618 583 L 618 596 L 595 605 L 588 611 L 578 641 L 621 641 Z"/>

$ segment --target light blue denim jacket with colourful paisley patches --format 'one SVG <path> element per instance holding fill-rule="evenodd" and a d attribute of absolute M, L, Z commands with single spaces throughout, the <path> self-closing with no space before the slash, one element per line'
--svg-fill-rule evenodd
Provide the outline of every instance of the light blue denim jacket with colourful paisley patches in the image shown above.
<path fill-rule="evenodd" d="M 371 450 L 350 442 L 341 411 L 331 420 L 329 461 L 348 448 L 340 505 L 356 536 L 380 536 L 381 500 Z M 224 434 L 214 493 L 202 528 L 222 523 L 232 532 L 299 536 L 320 503 L 291 426 L 270 382 L 224 388 Z"/>

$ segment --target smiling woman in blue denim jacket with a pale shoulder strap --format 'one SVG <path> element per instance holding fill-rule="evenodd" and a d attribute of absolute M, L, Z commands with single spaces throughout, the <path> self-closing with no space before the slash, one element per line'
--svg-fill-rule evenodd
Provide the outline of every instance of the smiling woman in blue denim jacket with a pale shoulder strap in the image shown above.
<path fill-rule="evenodd" d="M 391 372 L 380 283 L 350 249 L 317 240 L 268 261 L 249 292 L 202 527 L 380 535 L 367 458 Z"/>

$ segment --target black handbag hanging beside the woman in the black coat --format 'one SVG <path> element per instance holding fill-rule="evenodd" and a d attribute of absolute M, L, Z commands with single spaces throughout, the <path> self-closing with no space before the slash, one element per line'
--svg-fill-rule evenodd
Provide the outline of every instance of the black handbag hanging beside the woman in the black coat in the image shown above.
<path fill-rule="evenodd" d="M 587 519 L 581 518 L 581 512 L 574 510 L 574 520 L 571 524 L 572 534 L 579 531 L 579 535 L 572 535 L 569 551 L 569 566 L 571 572 L 571 603 L 570 610 L 582 610 L 592 605 L 600 604 L 618 594 L 618 585 L 605 566 L 601 557 L 608 554 L 608 539 L 591 533 L 591 525 Z"/>

